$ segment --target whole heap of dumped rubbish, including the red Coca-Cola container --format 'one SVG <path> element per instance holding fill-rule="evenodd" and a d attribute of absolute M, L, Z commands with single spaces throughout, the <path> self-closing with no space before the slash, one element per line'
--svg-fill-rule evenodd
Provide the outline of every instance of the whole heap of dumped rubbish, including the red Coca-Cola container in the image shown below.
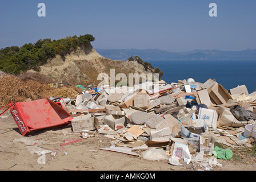
<path fill-rule="evenodd" d="M 226 90 L 214 79 L 200 83 L 189 78 L 171 84 L 161 80 L 89 88 L 75 98 L 50 97 L 4 107 L 23 136 L 70 125 L 83 139 L 95 134 L 113 139 L 101 150 L 167 160 L 175 166 L 221 167 L 217 159 L 229 160 L 233 151 L 255 144 L 256 92 L 249 94 L 245 85 Z"/>

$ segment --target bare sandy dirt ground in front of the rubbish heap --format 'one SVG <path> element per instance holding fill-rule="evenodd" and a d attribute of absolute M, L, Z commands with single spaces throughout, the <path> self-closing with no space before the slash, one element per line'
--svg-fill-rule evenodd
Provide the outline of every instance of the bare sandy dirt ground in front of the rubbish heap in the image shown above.
<path fill-rule="evenodd" d="M 71 126 L 42 130 L 23 137 L 14 119 L 7 112 L 0 117 L 0 170 L 1 171 L 197 171 L 192 164 L 173 166 L 168 160 L 145 160 L 118 152 L 100 150 L 110 147 L 110 138 L 103 134 L 83 139 L 74 134 Z M 61 146 L 67 139 L 82 139 Z M 37 144 L 41 144 L 40 147 Z M 44 144 L 44 145 L 42 145 Z M 56 152 L 47 154 L 47 150 Z M 45 155 L 35 152 L 45 151 Z M 138 154 L 143 151 L 136 151 Z M 44 158 L 45 157 L 45 158 Z M 42 164 L 45 162 L 45 164 Z M 255 156 L 242 155 L 241 160 L 220 160 L 222 167 L 210 171 L 255 171 Z"/>

